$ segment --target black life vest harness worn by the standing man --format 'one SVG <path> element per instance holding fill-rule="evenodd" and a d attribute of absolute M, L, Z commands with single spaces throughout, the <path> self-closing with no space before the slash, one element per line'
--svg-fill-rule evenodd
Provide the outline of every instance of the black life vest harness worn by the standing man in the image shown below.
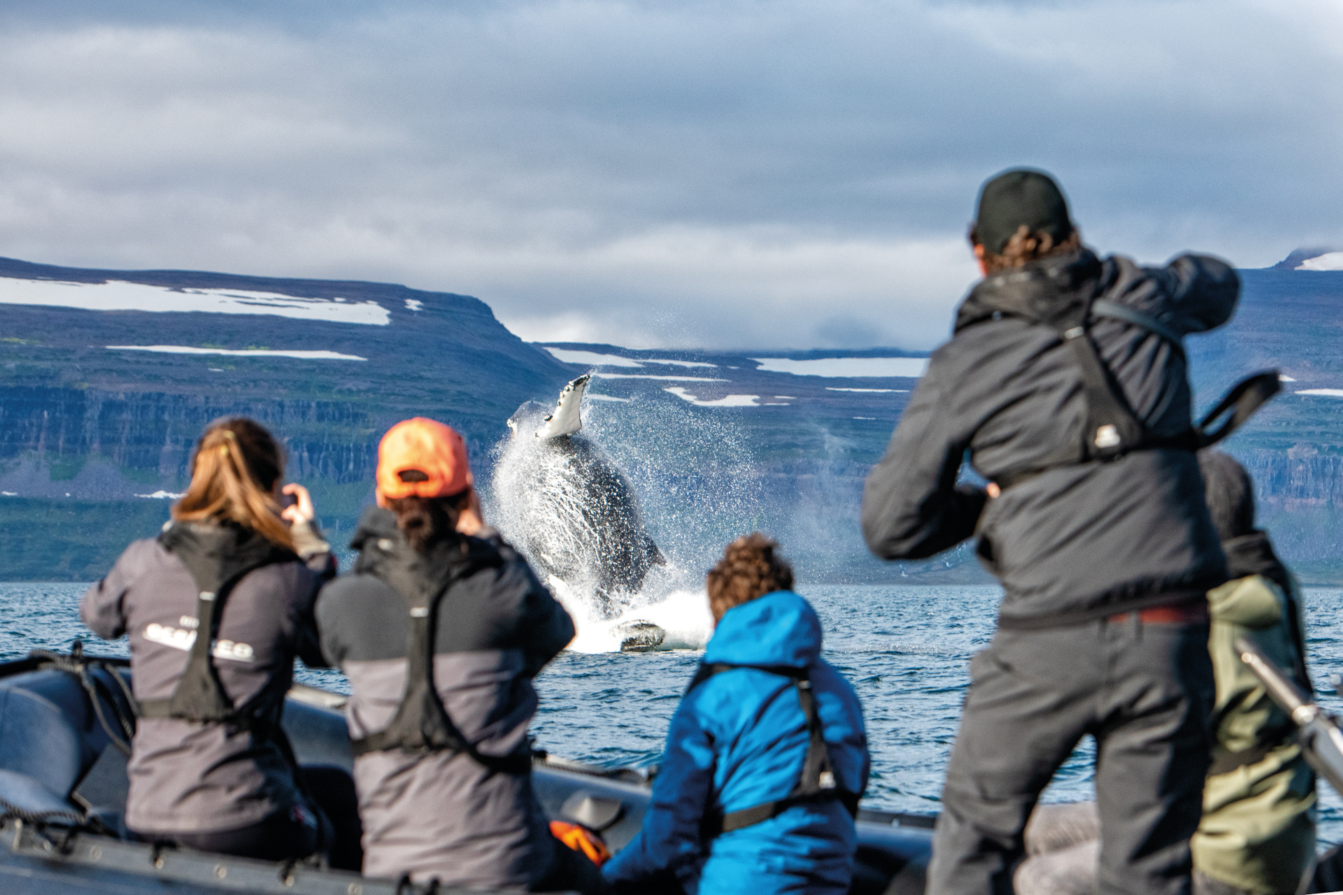
<path fill-rule="evenodd" d="M 1080 282 L 1064 294 L 1044 287 L 1031 290 L 1030 283 L 1017 290 L 990 290 L 976 293 L 972 309 L 967 303 L 956 319 L 956 331 L 999 317 L 1018 317 L 1033 323 L 1056 330 L 1073 354 L 1073 361 L 1081 373 L 1082 393 L 1086 401 L 1086 424 L 1084 437 L 1061 448 L 1054 456 L 1030 468 L 1010 470 L 998 475 L 995 482 L 1003 490 L 1041 472 L 1062 466 L 1076 466 L 1089 460 L 1113 460 L 1133 451 L 1174 448 L 1198 451 L 1225 439 L 1238 429 L 1281 388 L 1277 370 L 1256 373 L 1238 382 L 1197 427 L 1190 427 L 1174 437 L 1154 437 L 1139 420 L 1124 389 L 1115 380 L 1092 341 L 1089 327 L 1096 318 L 1111 318 L 1142 326 L 1150 333 L 1166 339 L 1172 350 L 1185 356 L 1180 335 L 1142 311 L 1097 298 L 1101 291 L 1100 262 L 1080 266 Z M 1217 429 L 1210 428 L 1226 417 Z"/>

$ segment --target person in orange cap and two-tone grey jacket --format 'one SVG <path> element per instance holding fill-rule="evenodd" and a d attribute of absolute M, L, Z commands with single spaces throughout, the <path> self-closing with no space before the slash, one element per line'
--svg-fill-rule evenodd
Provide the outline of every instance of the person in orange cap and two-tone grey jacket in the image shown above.
<path fill-rule="evenodd" d="M 322 590 L 317 624 L 353 691 L 364 874 L 604 891 L 603 849 L 552 828 L 532 790 L 532 679 L 573 621 L 483 525 L 457 432 L 416 417 L 383 436 L 377 506 L 351 546 L 355 572 Z"/>

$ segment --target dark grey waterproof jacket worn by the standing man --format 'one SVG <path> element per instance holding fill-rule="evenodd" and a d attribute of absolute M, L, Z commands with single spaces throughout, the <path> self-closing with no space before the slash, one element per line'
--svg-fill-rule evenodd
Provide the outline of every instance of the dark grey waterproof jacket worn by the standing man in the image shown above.
<path fill-rule="evenodd" d="M 1226 580 L 1193 451 L 1139 450 L 1054 467 L 994 501 L 958 486 L 967 458 L 992 480 L 1082 441 L 1086 404 L 1069 346 L 1048 325 L 994 311 L 1049 307 L 1089 290 L 1183 335 L 1225 323 L 1240 283 L 1213 258 L 1183 255 L 1151 268 L 1086 250 L 987 276 L 962 303 L 952 339 L 933 352 L 864 491 L 864 534 L 880 557 L 929 557 L 978 531 L 979 556 L 1006 592 L 1005 627 L 1172 602 Z M 1150 436 L 1190 428 L 1178 345 L 1111 317 L 1093 318 L 1089 333 Z"/>

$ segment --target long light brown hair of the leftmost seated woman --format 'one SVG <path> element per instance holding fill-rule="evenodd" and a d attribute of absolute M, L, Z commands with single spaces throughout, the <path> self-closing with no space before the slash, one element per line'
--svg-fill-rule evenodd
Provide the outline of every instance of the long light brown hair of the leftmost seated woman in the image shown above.
<path fill-rule="evenodd" d="M 279 518 L 275 483 L 285 474 L 285 455 L 259 423 L 246 417 L 205 427 L 191 458 L 191 484 L 172 509 L 183 522 L 235 522 L 271 543 L 294 549 Z"/>

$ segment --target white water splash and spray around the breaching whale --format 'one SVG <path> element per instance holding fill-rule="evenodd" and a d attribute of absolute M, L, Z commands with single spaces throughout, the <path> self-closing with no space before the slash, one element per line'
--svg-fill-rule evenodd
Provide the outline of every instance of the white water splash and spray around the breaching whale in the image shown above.
<path fill-rule="evenodd" d="M 579 628 L 571 648 L 618 651 L 618 628 L 629 621 L 662 627 L 661 649 L 702 648 L 713 627 L 702 570 L 724 543 L 761 527 L 761 488 L 745 439 L 729 413 L 661 393 L 584 403 L 582 419 L 582 436 L 633 484 L 666 565 L 651 568 L 637 593 L 600 588 L 603 556 L 571 486 L 572 458 L 537 439 L 505 437 L 496 445 L 488 518 L 536 568 L 555 570 L 548 584 Z M 556 569 L 560 556 L 575 560 Z"/>

